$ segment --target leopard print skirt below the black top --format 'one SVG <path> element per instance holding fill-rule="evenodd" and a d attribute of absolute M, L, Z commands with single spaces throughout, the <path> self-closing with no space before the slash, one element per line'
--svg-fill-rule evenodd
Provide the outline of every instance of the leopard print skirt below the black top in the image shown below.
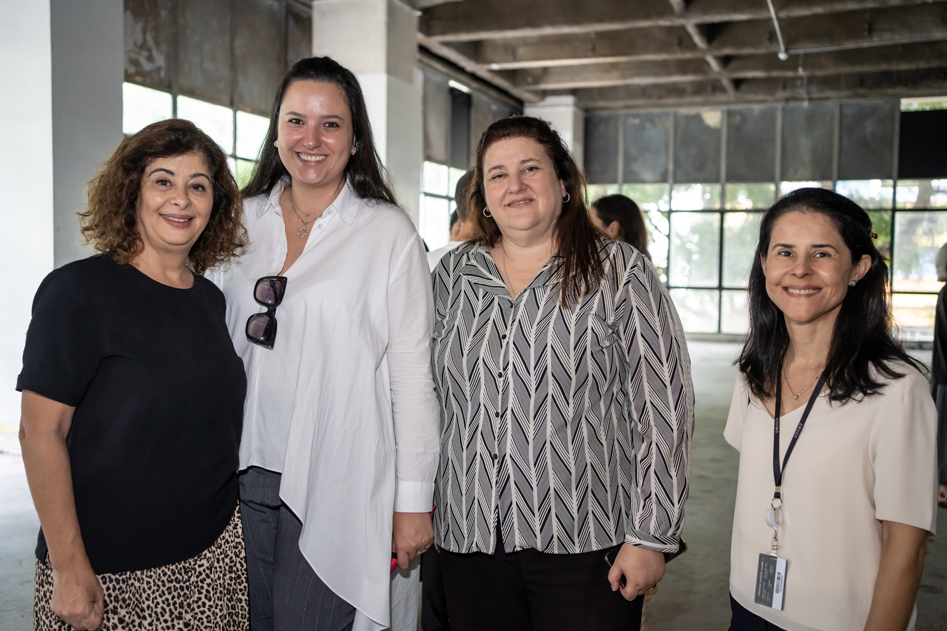
<path fill-rule="evenodd" d="M 247 631 L 246 555 L 240 508 L 223 535 L 195 557 L 153 570 L 99 574 L 103 631 Z M 53 570 L 36 562 L 34 631 L 74 631 L 52 610 Z"/>

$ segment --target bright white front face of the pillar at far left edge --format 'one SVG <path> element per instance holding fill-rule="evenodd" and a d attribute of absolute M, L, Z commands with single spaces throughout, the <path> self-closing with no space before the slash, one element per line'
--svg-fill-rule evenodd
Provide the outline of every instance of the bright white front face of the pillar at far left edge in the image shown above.
<path fill-rule="evenodd" d="M 49 1 L 0 0 L 0 431 L 20 422 L 20 373 L 33 294 L 53 269 Z"/>

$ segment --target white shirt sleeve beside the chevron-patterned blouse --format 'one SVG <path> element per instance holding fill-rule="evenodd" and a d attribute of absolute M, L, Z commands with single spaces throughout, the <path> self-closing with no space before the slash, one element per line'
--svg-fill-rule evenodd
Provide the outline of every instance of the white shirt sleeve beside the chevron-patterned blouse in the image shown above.
<path fill-rule="evenodd" d="M 395 511 L 427 513 L 438 472 L 438 399 L 431 374 L 434 296 L 420 237 L 402 250 L 388 279 L 391 410 L 397 449 Z"/>

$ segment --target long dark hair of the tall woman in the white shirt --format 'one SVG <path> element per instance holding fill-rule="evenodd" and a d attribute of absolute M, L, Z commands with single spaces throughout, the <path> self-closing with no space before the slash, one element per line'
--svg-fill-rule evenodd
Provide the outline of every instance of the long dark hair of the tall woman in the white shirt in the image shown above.
<path fill-rule="evenodd" d="M 398 205 L 382 166 L 382 160 L 375 149 L 362 86 L 348 68 L 331 57 L 310 57 L 296 61 L 283 74 L 283 79 L 279 81 L 277 88 L 277 97 L 273 99 L 270 130 L 266 133 L 263 147 L 259 149 L 259 162 L 250 182 L 241 191 L 244 199 L 261 193 L 269 193 L 279 179 L 288 174 L 286 167 L 283 167 L 279 159 L 279 151 L 273 143 L 277 141 L 279 107 L 283 103 L 283 96 L 286 96 L 287 88 L 296 81 L 325 81 L 342 90 L 342 94 L 346 97 L 348 111 L 352 116 L 352 130 L 357 149 L 355 154 L 348 158 L 345 170 L 346 180 L 363 200 L 381 200 Z"/>

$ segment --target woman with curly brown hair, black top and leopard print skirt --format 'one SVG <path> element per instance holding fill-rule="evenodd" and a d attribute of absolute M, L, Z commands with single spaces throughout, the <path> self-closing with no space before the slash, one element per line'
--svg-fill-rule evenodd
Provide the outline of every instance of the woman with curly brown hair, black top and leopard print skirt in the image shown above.
<path fill-rule="evenodd" d="M 246 629 L 246 380 L 219 289 L 245 245 L 223 151 L 192 123 L 126 137 L 89 186 L 99 254 L 33 301 L 20 442 L 41 531 L 35 629 Z"/>

